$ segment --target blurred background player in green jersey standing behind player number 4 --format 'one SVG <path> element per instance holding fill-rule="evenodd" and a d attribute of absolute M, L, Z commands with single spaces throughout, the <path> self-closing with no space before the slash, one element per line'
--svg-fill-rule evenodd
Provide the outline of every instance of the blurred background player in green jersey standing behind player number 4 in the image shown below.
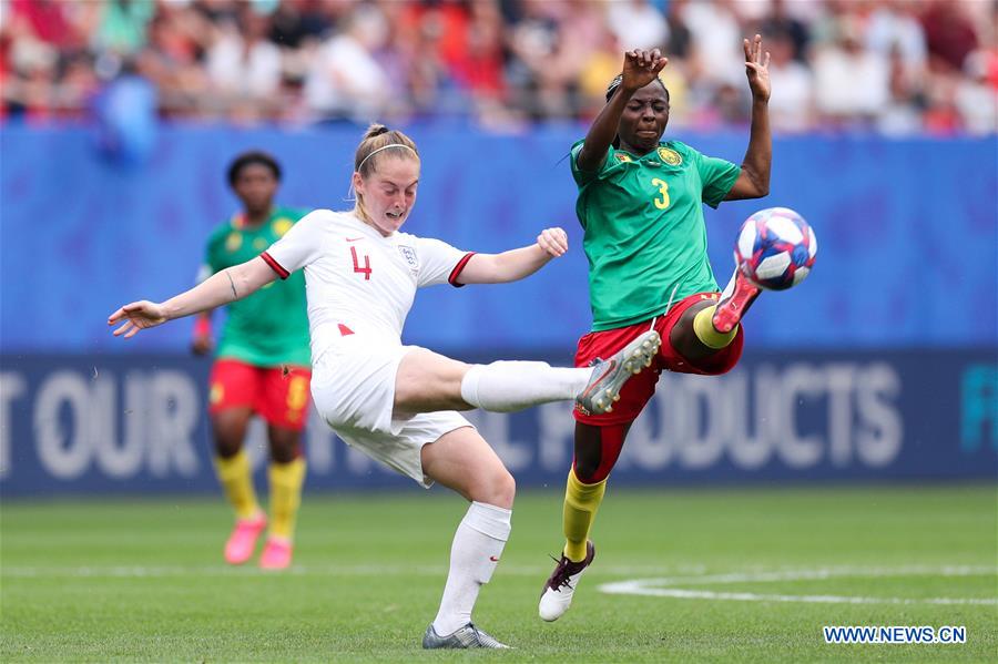
<path fill-rule="evenodd" d="M 228 184 L 243 210 L 212 233 L 200 282 L 258 256 L 305 214 L 274 204 L 281 165 L 264 152 L 238 155 L 228 167 Z M 235 528 L 225 543 L 225 561 L 237 565 L 249 560 L 267 527 L 243 449 L 249 420 L 258 415 L 267 423 L 271 454 L 271 521 L 259 566 L 284 569 L 292 561 L 305 481 L 302 430 L 312 377 L 305 277 L 292 275 L 230 303 L 226 314 L 208 397 L 215 469 L 236 513 Z M 195 321 L 192 349 L 197 355 L 212 349 L 211 315 L 211 309 L 204 311 Z"/>

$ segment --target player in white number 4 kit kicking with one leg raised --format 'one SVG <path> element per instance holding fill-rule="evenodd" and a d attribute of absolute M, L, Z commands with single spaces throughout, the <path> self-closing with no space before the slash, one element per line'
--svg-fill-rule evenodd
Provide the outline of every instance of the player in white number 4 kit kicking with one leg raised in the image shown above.
<path fill-rule="evenodd" d="M 651 362 L 660 339 L 649 331 L 592 368 L 467 365 L 403 346 L 416 288 L 521 279 L 564 254 L 568 238 L 561 228 L 548 228 L 533 245 L 490 255 L 400 233 L 416 203 L 416 144 L 401 132 L 371 125 L 354 165 L 353 211 L 316 210 L 259 257 L 166 302 L 125 305 L 108 324 L 123 321 L 114 335 L 129 338 L 304 268 L 312 392 L 319 415 L 370 457 L 425 487 L 440 482 L 471 501 L 455 534 L 444 597 L 422 646 L 506 647 L 475 626 L 471 610 L 509 538 L 516 483 L 492 448 L 455 411 L 506 412 L 570 399 L 588 411 L 608 411 L 628 377 Z"/>

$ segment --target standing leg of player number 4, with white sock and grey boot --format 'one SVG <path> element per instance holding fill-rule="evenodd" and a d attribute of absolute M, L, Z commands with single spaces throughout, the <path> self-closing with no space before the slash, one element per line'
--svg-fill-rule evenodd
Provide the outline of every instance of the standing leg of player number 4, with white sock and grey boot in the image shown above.
<path fill-rule="evenodd" d="M 456 429 L 422 448 L 422 471 L 471 502 L 450 549 L 450 571 L 425 648 L 508 647 L 479 630 L 471 612 L 509 539 L 516 481 L 471 427 Z"/>

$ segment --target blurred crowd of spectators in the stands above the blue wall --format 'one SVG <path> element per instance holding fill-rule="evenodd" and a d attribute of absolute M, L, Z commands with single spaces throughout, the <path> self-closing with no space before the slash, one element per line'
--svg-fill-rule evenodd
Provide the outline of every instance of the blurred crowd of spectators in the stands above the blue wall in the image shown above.
<path fill-rule="evenodd" d="M 671 123 L 996 132 L 995 0 L 0 0 L 0 116 L 79 119 L 128 83 L 163 118 L 585 120 L 621 53 L 661 48 Z"/>

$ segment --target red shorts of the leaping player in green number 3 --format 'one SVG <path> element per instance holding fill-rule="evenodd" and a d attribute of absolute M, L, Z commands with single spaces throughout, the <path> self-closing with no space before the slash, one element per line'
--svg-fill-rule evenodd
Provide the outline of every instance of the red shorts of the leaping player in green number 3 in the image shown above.
<path fill-rule="evenodd" d="M 652 366 L 624 384 L 623 389 L 620 391 L 620 401 L 613 405 L 612 412 L 583 415 L 576 409 L 573 411 L 576 420 L 583 425 L 597 427 L 634 421 L 641 413 L 641 410 L 644 409 L 644 405 L 655 394 L 655 384 L 659 382 L 659 374 L 663 370 L 705 376 L 717 376 L 731 371 L 742 357 L 744 335 L 741 326 L 739 326 L 739 331 L 731 344 L 721 348 L 714 355 L 697 361 L 684 358 L 672 347 L 670 341 L 672 328 L 686 313 L 686 309 L 704 300 L 716 300 L 719 297 L 717 293 L 695 293 L 676 303 L 664 316 L 656 317 L 655 329 L 662 336 L 662 347 L 659 349 L 659 355 L 655 356 L 654 361 L 652 361 Z M 610 357 L 627 346 L 638 335 L 648 331 L 650 326 L 651 320 L 649 319 L 628 327 L 589 333 L 579 339 L 579 347 L 576 350 L 576 366 L 588 367 L 589 362 L 598 357 Z"/>

